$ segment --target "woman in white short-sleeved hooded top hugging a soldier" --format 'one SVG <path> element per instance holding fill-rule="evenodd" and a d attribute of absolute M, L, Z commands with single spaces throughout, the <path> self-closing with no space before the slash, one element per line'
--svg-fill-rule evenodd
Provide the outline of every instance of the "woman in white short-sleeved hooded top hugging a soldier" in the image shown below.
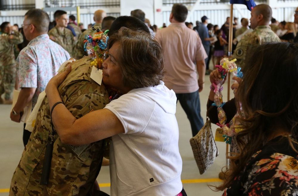
<path fill-rule="evenodd" d="M 46 94 L 63 143 L 84 145 L 111 137 L 111 195 L 186 195 L 175 117 L 176 95 L 161 81 L 162 48 L 148 33 L 122 27 L 109 37 L 103 83 L 123 95 L 105 109 L 76 119 L 57 91 L 71 71 L 53 77 Z"/>

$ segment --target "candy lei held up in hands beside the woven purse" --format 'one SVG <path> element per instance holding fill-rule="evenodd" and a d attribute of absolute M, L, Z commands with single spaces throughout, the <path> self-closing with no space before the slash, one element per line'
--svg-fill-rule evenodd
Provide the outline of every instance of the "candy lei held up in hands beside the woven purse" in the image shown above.
<path fill-rule="evenodd" d="M 225 138 L 224 141 L 227 144 L 231 144 L 232 137 L 235 135 L 235 133 L 240 131 L 240 129 L 235 128 L 238 125 L 237 122 L 235 122 L 235 117 L 239 115 L 238 112 L 233 117 L 230 123 L 226 123 L 226 113 L 222 108 L 225 102 L 223 102 L 222 100 L 221 90 L 223 89 L 222 84 L 224 83 L 226 74 L 230 72 L 232 73 L 233 76 L 237 76 L 239 78 L 242 78 L 243 76 L 242 71 L 240 71 L 241 68 L 237 68 L 235 61 L 236 59 L 233 59 L 232 61 L 229 61 L 228 58 L 221 59 L 220 65 L 215 65 L 215 67 L 217 67 L 218 71 L 221 73 L 221 80 L 216 81 L 215 83 L 212 83 L 212 86 L 215 88 L 214 103 L 212 104 L 212 106 L 217 106 L 218 122 L 219 122 L 217 123 L 217 125 L 223 129 L 224 131 L 223 137 Z M 234 81 L 234 83 L 237 83 L 237 81 Z"/>

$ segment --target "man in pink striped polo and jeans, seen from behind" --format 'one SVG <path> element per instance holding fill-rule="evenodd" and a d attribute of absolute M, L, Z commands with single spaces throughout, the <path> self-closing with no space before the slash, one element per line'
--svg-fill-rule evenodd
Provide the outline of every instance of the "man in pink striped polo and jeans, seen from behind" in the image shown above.
<path fill-rule="evenodd" d="M 164 70 L 167 73 L 164 84 L 176 93 L 195 136 L 204 126 L 199 92 L 204 88 L 204 59 L 208 56 L 198 34 L 184 23 L 187 13 L 184 5 L 174 4 L 170 14 L 171 24 L 160 29 L 155 37 L 164 54 Z"/>

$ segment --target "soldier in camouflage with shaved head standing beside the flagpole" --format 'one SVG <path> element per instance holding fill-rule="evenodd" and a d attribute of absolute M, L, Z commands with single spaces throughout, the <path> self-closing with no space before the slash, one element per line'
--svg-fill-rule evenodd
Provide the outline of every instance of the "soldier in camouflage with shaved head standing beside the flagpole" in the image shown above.
<path fill-rule="evenodd" d="M 244 67 L 246 51 L 252 45 L 260 45 L 267 42 L 280 42 L 280 38 L 271 30 L 269 22 L 272 10 L 266 4 L 260 4 L 252 9 L 250 23 L 253 32 L 247 33 L 238 42 L 233 58 L 237 59 L 237 66 Z"/>

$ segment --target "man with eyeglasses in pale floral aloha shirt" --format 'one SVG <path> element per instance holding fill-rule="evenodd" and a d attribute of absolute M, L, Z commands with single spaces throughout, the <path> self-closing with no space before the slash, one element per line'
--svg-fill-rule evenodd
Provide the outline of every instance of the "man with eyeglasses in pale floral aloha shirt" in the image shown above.
<path fill-rule="evenodd" d="M 31 100 L 32 108 L 35 106 L 38 95 L 57 74 L 60 65 L 70 58 L 66 50 L 49 39 L 49 15 L 46 12 L 40 9 L 29 10 L 22 26 L 24 35 L 30 42 L 20 51 L 15 62 L 18 79 L 16 83 L 21 90 L 10 112 L 10 119 L 18 123 L 25 106 Z M 25 126 L 26 124 L 23 132 L 24 146 L 31 135 L 30 131 L 25 130 Z"/>

